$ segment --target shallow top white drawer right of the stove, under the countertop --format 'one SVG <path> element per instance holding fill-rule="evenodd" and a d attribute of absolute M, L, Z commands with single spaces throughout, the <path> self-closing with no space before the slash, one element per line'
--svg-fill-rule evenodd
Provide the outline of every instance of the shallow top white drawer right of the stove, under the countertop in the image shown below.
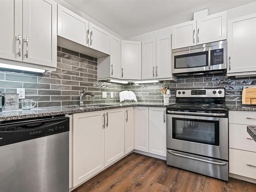
<path fill-rule="evenodd" d="M 256 112 L 230 111 L 229 123 L 256 125 Z"/>

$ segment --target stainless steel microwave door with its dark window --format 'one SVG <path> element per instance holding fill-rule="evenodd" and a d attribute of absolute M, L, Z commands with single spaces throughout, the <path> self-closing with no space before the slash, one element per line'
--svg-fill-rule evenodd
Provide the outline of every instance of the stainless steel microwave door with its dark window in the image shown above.
<path fill-rule="evenodd" d="M 211 47 L 172 53 L 173 73 L 189 73 L 211 70 Z"/>

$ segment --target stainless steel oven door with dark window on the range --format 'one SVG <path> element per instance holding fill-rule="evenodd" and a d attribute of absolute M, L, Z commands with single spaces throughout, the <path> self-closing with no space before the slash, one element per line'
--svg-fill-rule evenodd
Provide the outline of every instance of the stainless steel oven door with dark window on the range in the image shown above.
<path fill-rule="evenodd" d="M 228 160 L 228 119 L 167 114 L 167 148 Z"/>

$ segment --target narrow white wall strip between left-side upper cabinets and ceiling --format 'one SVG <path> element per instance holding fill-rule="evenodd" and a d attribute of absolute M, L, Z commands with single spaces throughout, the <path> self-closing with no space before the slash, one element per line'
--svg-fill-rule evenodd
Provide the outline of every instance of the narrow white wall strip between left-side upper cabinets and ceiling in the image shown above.
<path fill-rule="evenodd" d="M 67 9 L 73 11 L 74 13 L 78 14 L 79 16 L 87 19 L 89 22 L 92 22 L 93 24 L 99 26 L 100 28 L 108 31 L 109 33 L 111 33 L 112 35 L 120 38 L 120 39 L 124 39 L 122 36 L 118 35 L 117 33 L 115 33 L 114 31 L 112 31 L 111 29 L 105 27 L 104 25 L 100 24 L 99 22 L 97 22 L 97 20 L 93 19 L 92 17 L 90 17 L 89 15 L 81 12 L 80 10 L 74 8 L 72 5 L 68 4 L 67 2 L 63 1 L 63 0 L 54 0 L 55 2 L 57 2 L 58 4 L 66 7 Z"/>

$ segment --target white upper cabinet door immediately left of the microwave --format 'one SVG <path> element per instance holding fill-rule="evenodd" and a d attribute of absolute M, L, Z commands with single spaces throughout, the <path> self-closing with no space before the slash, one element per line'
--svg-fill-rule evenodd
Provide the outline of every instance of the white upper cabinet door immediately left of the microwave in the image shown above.
<path fill-rule="evenodd" d="M 172 49 L 170 35 L 159 37 L 156 41 L 157 79 L 172 77 Z"/>

